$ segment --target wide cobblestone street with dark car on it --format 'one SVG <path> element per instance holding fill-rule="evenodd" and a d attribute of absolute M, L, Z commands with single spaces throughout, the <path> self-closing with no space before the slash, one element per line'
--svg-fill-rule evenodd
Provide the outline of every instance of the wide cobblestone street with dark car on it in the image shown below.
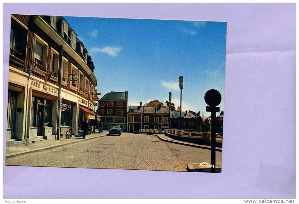
<path fill-rule="evenodd" d="M 222 153 L 216 152 L 221 167 Z M 122 133 L 6 159 L 6 165 L 186 171 L 210 162 L 210 150 L 161 141 L 154 135 Z"/>

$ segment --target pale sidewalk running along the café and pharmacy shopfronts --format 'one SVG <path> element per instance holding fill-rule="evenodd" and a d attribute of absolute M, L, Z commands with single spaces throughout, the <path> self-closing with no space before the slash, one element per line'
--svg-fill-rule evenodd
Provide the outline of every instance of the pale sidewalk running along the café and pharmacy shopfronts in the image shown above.
<path fill-rule="evenodd" d="M 107 136 L 108 131 L 103 131 L 102 134 L 96 132 L 94 134 L 87 135 L 85 139 L 82 137 L 72 137 L 71 139 L 63 139 L 63 140 L 53 140 L 53 141 L 44 141 L 39 143 L 31 143 L 31 144 L 23 144 L 19 146 L 11 146 L 5 148 L 5 158 L 11 158 L 17 155 L 28 154 L 32 152 L 43 151 L 47 149 L 52 149 L 55 147 L 60 147 L 62 145 L 74 144 L 77 142 L 82 142 L 90 139 L 95 139 L 103 136 Z"/>

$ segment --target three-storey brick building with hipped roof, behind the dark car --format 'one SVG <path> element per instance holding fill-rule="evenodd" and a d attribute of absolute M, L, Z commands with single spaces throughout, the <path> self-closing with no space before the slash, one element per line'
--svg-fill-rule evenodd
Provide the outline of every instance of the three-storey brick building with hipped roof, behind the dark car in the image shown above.
<path fill-rule="evenodd" d="M 97 115 L 101 117 L 103 129 L 119 124 L 126 131 L 128 91 L 106 93 L 98 102 Z"/>

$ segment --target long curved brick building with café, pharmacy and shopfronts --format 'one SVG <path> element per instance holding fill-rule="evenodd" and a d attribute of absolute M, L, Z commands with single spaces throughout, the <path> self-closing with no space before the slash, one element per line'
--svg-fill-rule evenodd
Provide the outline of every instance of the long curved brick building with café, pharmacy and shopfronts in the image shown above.
<path fill-rule="evenodd" d="M 9 59 L 8 145 L 62 139 L 95 118 L 94 65 L 63 17 L 12 15 Z"/>

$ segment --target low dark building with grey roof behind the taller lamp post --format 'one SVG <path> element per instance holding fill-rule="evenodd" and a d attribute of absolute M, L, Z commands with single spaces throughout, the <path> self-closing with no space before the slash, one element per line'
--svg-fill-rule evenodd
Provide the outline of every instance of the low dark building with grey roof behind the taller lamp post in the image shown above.
<path fill-rule="evenodd" d="M 202 119 L 191 112 L 182 112 L 180 118 L 179 111 L 170 111 L 170 129 L 179 129 L 181 121 L 181 130 L 201 131 Z"/>

